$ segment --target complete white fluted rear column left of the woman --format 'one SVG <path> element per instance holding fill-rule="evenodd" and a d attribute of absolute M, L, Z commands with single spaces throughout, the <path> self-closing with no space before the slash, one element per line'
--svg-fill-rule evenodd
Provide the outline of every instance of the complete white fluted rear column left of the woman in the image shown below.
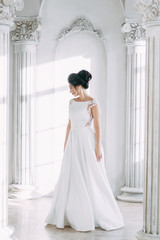
<path fill-rule="evenodd" d="M 13 184 L 9 197 L 37 198 L 35 191 L 35 78 L 37 18 L 16 18 L 14 45 Z"/>

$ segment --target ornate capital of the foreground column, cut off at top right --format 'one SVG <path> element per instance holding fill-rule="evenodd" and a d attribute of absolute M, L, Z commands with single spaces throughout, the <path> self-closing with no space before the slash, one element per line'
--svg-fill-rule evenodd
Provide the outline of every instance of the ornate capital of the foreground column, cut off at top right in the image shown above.
<path fill-rule="evenodd" d="M 160 0 L 137 0 L 135 8 L 143 21 L 160 20 Z"/>

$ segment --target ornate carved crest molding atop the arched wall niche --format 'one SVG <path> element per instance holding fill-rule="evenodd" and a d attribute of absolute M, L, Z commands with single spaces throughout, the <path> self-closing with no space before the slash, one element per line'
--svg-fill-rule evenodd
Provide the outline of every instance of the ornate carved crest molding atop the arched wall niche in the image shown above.
<path fill-rule="evenodd" d="M 66 35 L 73 32 L 90 32 L 94 33 L 98 38 L 105 40 L 102 31 L 100 29 L 95 29 L 93 24 L 83 17 L 74 20 L 69 27 L 64 28 L 58 36 L 58 40 L 62 40 Z"/>

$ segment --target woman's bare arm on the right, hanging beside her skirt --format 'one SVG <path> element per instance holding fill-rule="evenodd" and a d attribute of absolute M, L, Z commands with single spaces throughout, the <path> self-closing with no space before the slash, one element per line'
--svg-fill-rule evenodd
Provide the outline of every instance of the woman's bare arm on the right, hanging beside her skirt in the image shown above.
<path fill-rule="evenodd" d="M 102 158 L 101 153 L 101 128 L 100 128 L 100 109 L 98 104 L 91 108 L 92 116 L 94 118 L 94 129 L 96 134 L 96 157 L 100 161 Z"/>

